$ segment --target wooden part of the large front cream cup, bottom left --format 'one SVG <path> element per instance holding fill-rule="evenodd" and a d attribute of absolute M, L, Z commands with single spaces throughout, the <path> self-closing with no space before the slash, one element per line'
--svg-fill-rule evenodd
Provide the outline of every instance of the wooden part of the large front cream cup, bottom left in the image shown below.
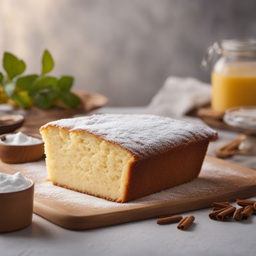
<path fill-rule="evenodd" d="M 29 180 L 29 179 L 28 179 Z M 34 182 L 23 190 L 0 193 L 0 232 L 11 232 L 31 225 L 33 217 Z"/>

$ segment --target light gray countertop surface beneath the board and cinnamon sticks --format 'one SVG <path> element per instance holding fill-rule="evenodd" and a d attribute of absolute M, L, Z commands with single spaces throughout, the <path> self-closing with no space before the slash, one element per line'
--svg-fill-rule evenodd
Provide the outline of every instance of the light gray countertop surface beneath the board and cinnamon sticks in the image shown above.
<path fill-rule="evenodd" d="M 143 109 L 104 108 L 100 111 L 139 113 Z M 220 140 L 216 143 L 225 143 L 236 135 L 220 131 Z M 212 154 L 218 144 L 212 143 L 208 153 Z M 255 158 L 236 156 L 230 160 L 255 168 Z M 183 214 L 196 218 L 187 231 L 178 230 L 176 224 L 157 225 L 156 219 L 73 231 L 34 214 L 31 227 L 0 234 L 0 255 L 255 255 L 255 216 L 248 221 L 221 222 L 210 220 L 210 211 L 202 209 Z"/>

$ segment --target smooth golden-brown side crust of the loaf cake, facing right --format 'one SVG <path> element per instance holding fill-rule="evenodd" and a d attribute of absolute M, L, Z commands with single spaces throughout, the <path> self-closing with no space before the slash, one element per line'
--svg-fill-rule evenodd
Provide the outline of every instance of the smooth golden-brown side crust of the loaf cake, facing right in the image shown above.
<path fill-rule="evenodd" d="M 178 150 L 132 164 L 122 202 L 172 188 L 198 177 L 209 141 L 200 141 Z"/>

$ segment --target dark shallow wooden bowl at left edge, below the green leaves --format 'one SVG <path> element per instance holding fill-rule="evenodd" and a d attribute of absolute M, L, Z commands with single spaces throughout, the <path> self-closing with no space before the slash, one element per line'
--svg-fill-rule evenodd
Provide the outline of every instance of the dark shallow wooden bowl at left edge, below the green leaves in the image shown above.
<path fill-rule="evenodd" d="M 0 134 L 13 132 L 24 123 L 22 115 L 0 115 Z"/>

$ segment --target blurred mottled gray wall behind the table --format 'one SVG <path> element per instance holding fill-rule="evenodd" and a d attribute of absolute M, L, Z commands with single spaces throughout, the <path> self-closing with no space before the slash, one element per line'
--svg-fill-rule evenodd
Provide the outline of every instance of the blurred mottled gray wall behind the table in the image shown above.
<path fill-rule="evenodd" d="M 255 0 L 1 0 L 0 50 L 40 70 L 45 48 L 54 74 L 103 93 L 112 106 L 143 106 L 168 76 L 209 81 L 205 49 L 256 36 Z"/>

